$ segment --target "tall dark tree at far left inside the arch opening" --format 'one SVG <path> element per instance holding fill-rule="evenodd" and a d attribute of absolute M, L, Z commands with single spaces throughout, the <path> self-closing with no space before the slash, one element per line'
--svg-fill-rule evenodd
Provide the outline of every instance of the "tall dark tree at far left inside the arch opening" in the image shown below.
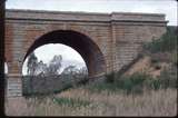
<path fill-rule="evenodd" d="M 28 58 L 28 62 L 27 62 L 27 67 L 28 67 L 28 75 L 33 76 L 36 75 L 36 68 L 38 66 L 38 58 L 36 57 L 34 52 L 32 52 L 29 58 Z"/>

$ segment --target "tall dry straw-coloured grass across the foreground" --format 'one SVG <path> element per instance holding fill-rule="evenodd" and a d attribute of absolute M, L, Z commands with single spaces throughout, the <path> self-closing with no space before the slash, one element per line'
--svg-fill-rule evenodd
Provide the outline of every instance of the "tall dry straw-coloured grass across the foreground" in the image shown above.
<path fill-rule="evenodd" d="M 53 97 L 80 99 L 90 104 L 78 107 L 59 105 L 53 102 Z M 176 116 L 177 89 L 146 90 L 144 95 L 127 96 L 121 91 L 91 92 L 80 87 L 43 99 L 8 98 L 6 112 L 8 116 Z"/>

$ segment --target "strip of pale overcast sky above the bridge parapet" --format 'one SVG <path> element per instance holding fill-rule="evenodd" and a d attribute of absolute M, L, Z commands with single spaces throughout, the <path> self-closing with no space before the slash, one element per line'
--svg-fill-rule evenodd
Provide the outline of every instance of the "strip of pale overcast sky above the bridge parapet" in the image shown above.
<path fill-rule="evenodd" d="M 169 26 L 177 26 L 176 0 L 7 0 L 7 9 L 87 12 L 165 13 Z"/>

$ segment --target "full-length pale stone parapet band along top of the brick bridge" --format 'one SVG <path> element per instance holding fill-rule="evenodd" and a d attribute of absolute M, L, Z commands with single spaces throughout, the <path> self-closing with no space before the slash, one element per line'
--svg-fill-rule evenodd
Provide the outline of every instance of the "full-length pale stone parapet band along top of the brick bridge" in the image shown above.
<path fill-rule="evenodd" d="M 136 12 L 69 12 L 69 11 L 44 11 L 44 10 L 17 10 L 7 9 L 7 19 L 17 20 L 53 20 L 53 21 L 147 21 L 165 22 L 162 13 L 136 13 Z"/>

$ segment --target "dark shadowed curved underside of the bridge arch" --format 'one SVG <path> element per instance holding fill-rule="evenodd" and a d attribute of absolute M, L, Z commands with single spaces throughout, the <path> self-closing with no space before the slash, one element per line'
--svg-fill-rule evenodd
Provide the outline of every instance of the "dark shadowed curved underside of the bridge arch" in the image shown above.
<path fill-rule="evenodd" d="M 87 65 L 89 78 L 106 73 L 105 57 L 99 47 L 88 36 L 72 30 L 55 30 L 36 39 L 28 49 L 23 62 L 34 49 L 48 43 L 62 43 L 78 51 Z"/>

